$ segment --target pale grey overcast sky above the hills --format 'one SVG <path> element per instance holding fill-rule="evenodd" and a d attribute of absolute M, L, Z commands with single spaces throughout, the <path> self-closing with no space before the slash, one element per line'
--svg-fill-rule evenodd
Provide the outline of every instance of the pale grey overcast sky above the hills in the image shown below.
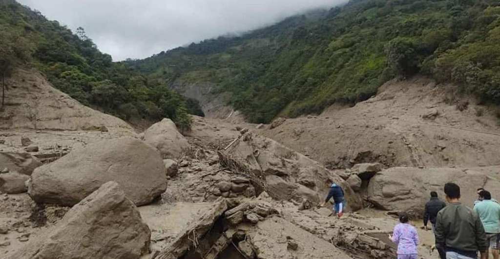
<path fill-rule="evenodd" d="M 75 31 L 113 60 L 145 58 L 190 42 L 268 25 L 347 0 L 18 0 Z"/>

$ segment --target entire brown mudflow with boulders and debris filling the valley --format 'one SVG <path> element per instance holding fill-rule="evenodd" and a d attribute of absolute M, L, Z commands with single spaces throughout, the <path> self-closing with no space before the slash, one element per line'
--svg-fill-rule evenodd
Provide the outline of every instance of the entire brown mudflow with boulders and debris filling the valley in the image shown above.
<path fill-rule="evenodd" d="M 419 228 L 428 193 L 500 193 L 498 119 L 448 87 L 390 81 L 269 125 L 224 107 L 181 135 L 168 119 L 136 132 L 19 70 L 0 122 L 0 257 L 393 258 L 404 211 L 420 258 L 436 258 Z M 318 207 L 328 180 L 346 193 L 340 219 Z"/>

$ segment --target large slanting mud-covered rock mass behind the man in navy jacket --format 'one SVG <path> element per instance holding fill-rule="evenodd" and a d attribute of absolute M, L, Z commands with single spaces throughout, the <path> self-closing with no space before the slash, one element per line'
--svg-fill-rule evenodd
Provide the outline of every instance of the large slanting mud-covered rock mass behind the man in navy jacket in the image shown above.
<path fill-rule="evenodd" d="M 360 209 L 359 196 L 342 178 L 271 139 L 248 132 L 218 154 L 221 166 L 250 179 L 257 195 L 265 190 L 277 200 L 317 204 L 333 181 L 344 189 L 350 209 Z"/>

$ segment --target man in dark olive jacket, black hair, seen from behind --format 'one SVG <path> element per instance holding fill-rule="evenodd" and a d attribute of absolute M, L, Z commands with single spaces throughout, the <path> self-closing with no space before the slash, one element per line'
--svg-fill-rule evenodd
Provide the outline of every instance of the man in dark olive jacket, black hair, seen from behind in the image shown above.
<path fill-rule="evenodd" d="M 488 243 L 477 213 L 460 203 L 460 187 L 454 183 L 444 185 L 448 206 L 437 213 L 436 246 L 444 249 L 446 259 L 481 259 L 487 256 Z"/>

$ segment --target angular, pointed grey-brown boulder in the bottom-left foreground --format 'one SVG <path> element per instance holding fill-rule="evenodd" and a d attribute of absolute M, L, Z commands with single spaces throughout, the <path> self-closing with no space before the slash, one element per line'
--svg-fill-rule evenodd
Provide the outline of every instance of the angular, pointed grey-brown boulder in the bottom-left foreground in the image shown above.
<path fill-rule="evenodd" d="M 103 184 L 9 259 L 138 259 L 151 232 L 115 182 Z"/>

